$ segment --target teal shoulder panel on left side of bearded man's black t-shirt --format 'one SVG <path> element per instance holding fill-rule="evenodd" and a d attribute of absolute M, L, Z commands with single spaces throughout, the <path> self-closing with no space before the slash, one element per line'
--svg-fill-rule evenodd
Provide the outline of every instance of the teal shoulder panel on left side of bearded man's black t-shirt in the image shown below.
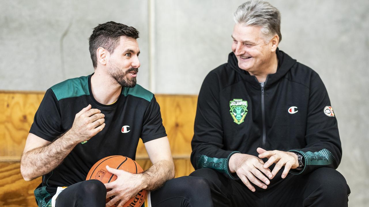
<path fill-rule="evenodd" d="M 90 95 L 88 76 L 72 78 L 58 83 L 51 87 L 56 99 L 60 101 L 63 98 L 80 97 Z"/>

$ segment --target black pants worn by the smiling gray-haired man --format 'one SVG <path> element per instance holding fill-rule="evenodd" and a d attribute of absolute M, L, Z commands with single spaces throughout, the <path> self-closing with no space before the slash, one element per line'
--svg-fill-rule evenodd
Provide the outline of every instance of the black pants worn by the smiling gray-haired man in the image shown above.
<path fill-rule="evenodd" d="M 350 193 L 345 178 L 331 168 L 318 168 L 306 175 L 289 173 L 285 179 L 275 183 L 272 179 L 266 190 L 256 186 L 256 192 L 251 192 L 241 181 L 209 168 L 198 169 L 190 176 L 208 180 L 215 207 L 341 207 L 347 206 Z"/>

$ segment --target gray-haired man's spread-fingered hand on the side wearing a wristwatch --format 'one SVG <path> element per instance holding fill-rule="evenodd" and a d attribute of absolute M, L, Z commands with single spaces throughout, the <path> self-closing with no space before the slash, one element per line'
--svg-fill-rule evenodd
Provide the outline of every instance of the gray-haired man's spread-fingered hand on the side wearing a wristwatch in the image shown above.
<path fill-rule="evenodd" d="M 258 147 L 256 151 L 259 153 L 259 158 L 268 158 L 268 161 L 265 162 L 263 168 L 269 168 L 270 165 L 276 163 L 274 169 L 272 170 L 273 178 L 283 166 L 284 170 L 282 173 L 282 178 L 286 178 L 290 169 L 295 169 L 299 166 L 298 157 L 293 152 L 284 152 L 279 150 L 266 151 L 260 147 Z"/>

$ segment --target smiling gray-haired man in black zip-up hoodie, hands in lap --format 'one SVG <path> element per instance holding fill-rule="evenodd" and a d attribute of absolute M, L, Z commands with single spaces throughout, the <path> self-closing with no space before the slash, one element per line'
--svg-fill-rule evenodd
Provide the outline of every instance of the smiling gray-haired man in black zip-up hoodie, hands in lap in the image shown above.
<path fill-rule="evenodd" d="M 234 19 L 228 63 L 201 86 L 191 176 L 208 180 L 214 206 L 347 206 L 337 119 L 320 77 L 278 49 L 275 7 L 248 1 Z"/>

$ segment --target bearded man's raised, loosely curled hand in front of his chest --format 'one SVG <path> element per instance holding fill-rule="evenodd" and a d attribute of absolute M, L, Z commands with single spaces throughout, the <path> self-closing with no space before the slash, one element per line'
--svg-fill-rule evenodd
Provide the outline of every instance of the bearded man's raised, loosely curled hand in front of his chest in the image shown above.
<path fill-rule="evenodd" d="M 89 140 L 105 127 L 105 115 L 89 104 L 76 114 L 72 128 L 68 131 L 76 138 L 76 143 Z"/>

